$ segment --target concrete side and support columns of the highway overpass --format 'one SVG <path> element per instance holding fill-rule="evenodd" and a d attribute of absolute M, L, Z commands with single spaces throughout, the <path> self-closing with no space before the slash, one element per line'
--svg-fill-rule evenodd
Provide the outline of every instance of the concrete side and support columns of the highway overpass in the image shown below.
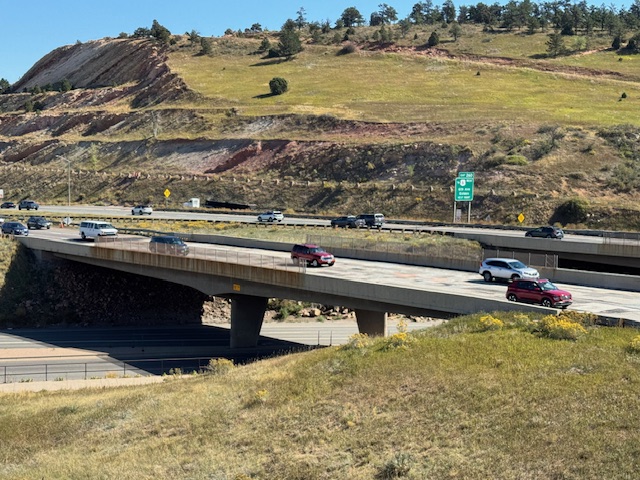
<path fill-rule="evenodd" d="M 146 239 L 118 238 L 86 243 L 36 236 L 20 237 L 42 260 L 66 259 L 153 277 L 231 300 L 231 347 L 257 345 L 269 298 L 285 298 L 353 309 L 358 329 L 385 335 L 387 313 L 450 317 L 479 311 L 517 310 L 555 314 L 557 310 L 488 299 L 307 273 L 282 256 L 191 247 L 189 256 L 151 253 Z"/>

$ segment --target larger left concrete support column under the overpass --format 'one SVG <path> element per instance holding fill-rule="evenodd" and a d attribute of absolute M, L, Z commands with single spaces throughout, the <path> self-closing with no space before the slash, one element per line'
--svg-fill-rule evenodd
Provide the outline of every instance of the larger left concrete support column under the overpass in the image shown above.
<path fill-rule="evenodd" d="M 231 298 L 231 348 L 255 347 L 268 298 L 235 295 Z"/>

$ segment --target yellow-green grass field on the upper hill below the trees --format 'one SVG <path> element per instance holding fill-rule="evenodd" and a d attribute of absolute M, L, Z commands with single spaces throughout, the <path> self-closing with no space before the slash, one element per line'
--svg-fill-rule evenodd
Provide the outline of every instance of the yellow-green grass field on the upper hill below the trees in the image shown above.
<path fill-rule="evenodd" d="M 459 44 L 443 46 L 452 52 L 522 59 L 527 54 L 544 54 L 546 38 L 545 34 L 476 34 L 461 37 Z M 489 44 L 493 48 L 488 48 Z M 338 46 L 307 45 L 294 60 L 283 62 L 246 53 L 197 56 L 181 50 L 172 54 L 170 65 L 206 97 L 205 105 L 235 107 L 245 115 L 332 114 L 374 122 L 535 120 L 613 125 L 634 122 L 640 100 L 640 86 L 633 80 L 432 58 L 420 51 L 361 50 L 338 56 L 338 50 Z M 544 63 L 635 75 L 635 58 L 625 58 L 626 63 L 617 59 L 617 55 L 604 52 Z M 269 96 L 269 80 L 276 76 L 286 78 L 290 90 Z M 623 92 L 627 98 L 620 102 Z"/>

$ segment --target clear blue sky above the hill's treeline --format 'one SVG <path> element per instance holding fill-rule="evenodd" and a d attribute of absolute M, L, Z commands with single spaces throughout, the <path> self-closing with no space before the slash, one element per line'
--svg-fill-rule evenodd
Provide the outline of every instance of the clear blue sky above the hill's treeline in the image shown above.
<path fill-rule="evenodd" d="M 0 78 L 18 81 L 31 66 L 51 50 L 76 43 L 133 33 L 158 20 L 172 33 L 197 30 L 201 35 L 220 36 L 227 28 L 244 30 L 254 23 L 279 29 L 297 11 L 305 9 L 307 20 L 329 20 L 333 25 L 348 7 L 356 7 L 366 20 L 382 3 L 406 17 L 418 0 L 0 0 Z M 478 1 L 459 2 L 477 4 Z M 485 0 L 484 3 L 494 3 Z M 588 2 L 591 4 L 592 2 Z M 596 5 L 602 2 L 596 1 Z M 628 7 L 622 0 L 607 1 Z M 434 5 L 442 1 L 434 0 Z"/>

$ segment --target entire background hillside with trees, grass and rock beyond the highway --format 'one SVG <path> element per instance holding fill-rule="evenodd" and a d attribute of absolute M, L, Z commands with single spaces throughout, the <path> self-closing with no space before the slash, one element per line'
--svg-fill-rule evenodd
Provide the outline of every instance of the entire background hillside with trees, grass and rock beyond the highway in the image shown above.
<path fill-rule="evenodd" d="M 640 229 L 640 2 L 303 8 L 280 30 L 150 28 L 61 47 L 0 81 L 11 199 L 194 196 L 334 215 Z M 81 181 L 80 181 L 81 180 Z M 286 188 L 283 188 L 283 185 Z M 175 199 L 175 200 L 174 200 Z"/>

